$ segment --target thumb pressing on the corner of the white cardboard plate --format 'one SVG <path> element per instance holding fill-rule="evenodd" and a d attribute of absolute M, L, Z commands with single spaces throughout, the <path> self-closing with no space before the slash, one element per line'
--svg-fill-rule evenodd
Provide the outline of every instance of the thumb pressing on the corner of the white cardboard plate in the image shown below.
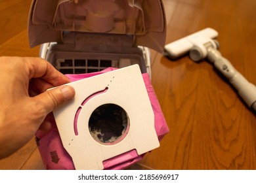
<path fill-rule="evenodd" d="M 66 101 L 70 101 L 75 96 L 75 90 L 72 86 L 59 86 L 53 88 L 52 90 L 47 90 L 35 98 L 39 100 L 41 104 L 44 105 L 44 108 L 48 113 L 52 112 L 56 107 L 62 105 Z"/>

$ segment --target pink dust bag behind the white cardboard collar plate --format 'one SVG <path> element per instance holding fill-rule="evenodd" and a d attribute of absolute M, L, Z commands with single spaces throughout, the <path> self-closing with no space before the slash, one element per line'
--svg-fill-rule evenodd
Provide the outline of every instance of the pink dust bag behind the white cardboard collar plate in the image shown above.
<path fill-rule="evenodd" d="M 100 75 L 102 73 L 114 70 L 115 68 L 108 68 L 96 73 L 66 76 L 70 78 L 70 80 L 73 82 L 76 80 L 89 78 L 91 76 Z M 158 135 L 158 140 L 161 141 L 163 136 L 169 132 L 169 128 L 165 122 L 165 118 L 161 111 L 160 104 L 158 103 L 158 99 L 156 97 L 156 93 L 154 92 L 154 88 L 152 87 L 152 84 L 150 82 L 148 73 L 142 74 L 142 77 L 144 80 L 144 84 L 146 86 L 146 90 L 148 92 L 148 96 L 150 98 L 152 108 L 154 110 L 155 129 Z M 56 127 L 54 119 L 51 120 L 51 124 L 52 127 L 49 131 L 37 131 L 37 133 L 35 134 L 35 141 L 37 142 L 37 146 L 41 154 L 43 164 L 45 165 L 46 169 L 74 170 L 74 163 L 68 152 L 66 152 L 66 150 L 62 146 L 62 141 L 60 139 L 60 135 L 58 133 L 58 129 Z M 103 162 L 104 169 L 125 169 L 126 167 L 129 167 L 129 165 L 132 165 L 133 163 L 140 161 L 140 159 L 142 159 L 143 156 L 144 154 L 139 156 L 136 150 L 131 150 L 129 152 L 119 154 L 114 158 L 105 160 Z"/>

